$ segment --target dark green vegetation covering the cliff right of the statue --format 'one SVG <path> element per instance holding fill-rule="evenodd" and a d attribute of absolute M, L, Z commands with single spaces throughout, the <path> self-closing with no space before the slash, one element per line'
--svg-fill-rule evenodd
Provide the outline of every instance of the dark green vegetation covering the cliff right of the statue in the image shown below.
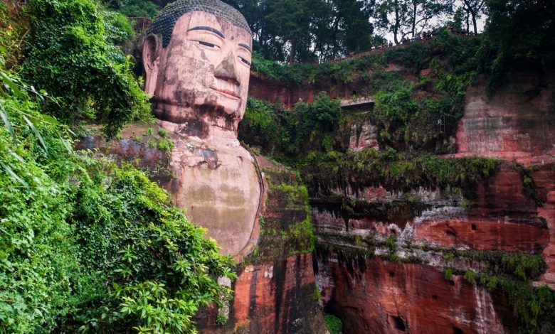
<path fill-rule="evenodd" d="M 485 1 L 485 4 L 482 10 L 487 8 L 490 18 L 482 36 L 457 36 L 445 30 L 430 41 L 318 65 L 286 66 L 255 55 L 256 72 L 288 87 L 316 84 L 314 87 L 331 87 L 333 91 L 356 82 L 356 87 L 364 90 L 357 89 L 354 97 L 373 97 L 374 109 L 371 112 L 341 110 L 326 95 L 317 95 L 308 106 L 304 101 L 297 102 L 291 110 L 251 99 L 241 124 L 241 136 L 263 152 L 298 168 L 310 195 L 321 197 L 313 198 L 314 203 L 323 205 L 322 197 L 327 196 L 327 209 L 340 212 L 346 221 L 355 215 L 355 209 L 374 208 L 359 205 L 352 195 L 341 196 L 330 190 L 348 189 L 356 194 L 357 190 L 371 185 L 405 191 L 424 185 L 462 188 L 464 195 L 472 195 L 472 187 L 480 178 L 492 176 L 499 168 L 499 161 L 435 155 L 453 153 L 448 144 L 442 145 L 437 139 L 454 134 L 462 117 L 467 87 L 485 79 L 487 92 L 492 94 L 504 85 L 514 69 L 549 72 L 555 60 L 555 45 L 550 38 L 555 28 L 551 19 L 555 11 L 553 4 L 504 0 Z M 537 11 L 541 13 L 535 15 Z M 472 16 L 475 14 L 479 12 Z M 545 85 L 540 82 L 537 92 Z M 529 94 L 535 96 L 537 92 Z M 310 119 L 304 119 L 301 114 Z M 446 126 L 440 131 L 437 122 L 441 115 L 445 116 Z M 351 125 L 363 122 L 376 126 L 381 151 L 347 150 L 344 138 L 349 135 Z M 531 171 L 516 163 L 514 169 L 522 174 L 524 193 L 536 200 L 537 205 L 543 205 L 534 190 Z M 395 209 L 391 205 L 383 210 L 396 215 Z M 413 209 L 418 210 L 418 205 Z M 376 212 L 365 217 L 378 220 Z M 374 239 L 322 233 L 317 239 L 324 242 L 319 241 L 317 249 L 329 247 L 351 256 L 366 257 L 378 254 L 379 247 L 379 256 L 390 261 L 421 261 L 413 255 L 399 257 L 397 247 L 412 254 L 414 246 L 397 242 L 394 235 Z M 336 243 L 330 244 L 329 240 L 334 238 Z M 436 252 L 445 257 L 446 279 L 463 276 L 470 284 L 489 289 L 496 305 L 507 303 L 514 316 L 509 323 L 514 321 L 522 333 L 552 331 L 555 292 L 546 286 L 532 285 L 546 271 L 541 254 L 424 248 L 419 251 Z M 461 262 L 480 263 L 480 270 L 458 269 Z"/>

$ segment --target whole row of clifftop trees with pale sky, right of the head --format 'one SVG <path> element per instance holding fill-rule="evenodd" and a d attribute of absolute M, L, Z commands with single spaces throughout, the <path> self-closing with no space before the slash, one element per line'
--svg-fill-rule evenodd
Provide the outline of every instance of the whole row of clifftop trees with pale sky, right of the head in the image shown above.
<path fill-rule="evenodd" d="M 425 31 L 462 28 L 468 10 L 450 0 L 226 0 L 254 32 L 255 50 L 281 63 L 314 63 L 395 43 Z"/>

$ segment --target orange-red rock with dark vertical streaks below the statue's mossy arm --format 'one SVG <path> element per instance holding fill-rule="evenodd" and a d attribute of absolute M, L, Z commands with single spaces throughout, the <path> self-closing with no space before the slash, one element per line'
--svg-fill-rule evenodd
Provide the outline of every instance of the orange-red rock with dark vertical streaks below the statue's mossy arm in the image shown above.
<path fill-rule="evenodd" d="M 240 267 L 228 323 L 215 310 L 199 313 L 200 333 L 325 333 L 314 299 L 312 255 Z"/>

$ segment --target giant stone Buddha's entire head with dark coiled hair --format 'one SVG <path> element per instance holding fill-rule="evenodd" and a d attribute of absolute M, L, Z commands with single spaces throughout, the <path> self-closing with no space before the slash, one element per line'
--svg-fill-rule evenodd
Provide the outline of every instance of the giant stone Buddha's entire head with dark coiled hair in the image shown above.
<path fill-rule="evenodd" d="M 153 112 L 203 138 L 216 127 L 235 134 L 248 95 L 252 33 L 219 0 L 177 0 L 147 30 L 145 90 Z"/>

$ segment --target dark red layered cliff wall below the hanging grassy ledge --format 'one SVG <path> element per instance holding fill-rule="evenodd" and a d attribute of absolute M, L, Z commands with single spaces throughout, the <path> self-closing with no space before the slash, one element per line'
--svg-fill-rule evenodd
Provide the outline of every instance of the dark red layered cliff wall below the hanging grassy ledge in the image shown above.
<path fill-rule="evenodd" d="M 508 163 L 477 184 L 468 203 L 425 188 L 367 187 L 350 197 L 350 210 L 338 195 L 312 198 L 322 305 L 345 333 L 517 333 L 506 298 L 465 275 L 491 275 L 503 257 L 544 254 L 548 268 L 536 285 L 553 283 L 554 198 L 544 197 L 553 194 L 553 168 L 532 173 L 543 208 Z"/>

